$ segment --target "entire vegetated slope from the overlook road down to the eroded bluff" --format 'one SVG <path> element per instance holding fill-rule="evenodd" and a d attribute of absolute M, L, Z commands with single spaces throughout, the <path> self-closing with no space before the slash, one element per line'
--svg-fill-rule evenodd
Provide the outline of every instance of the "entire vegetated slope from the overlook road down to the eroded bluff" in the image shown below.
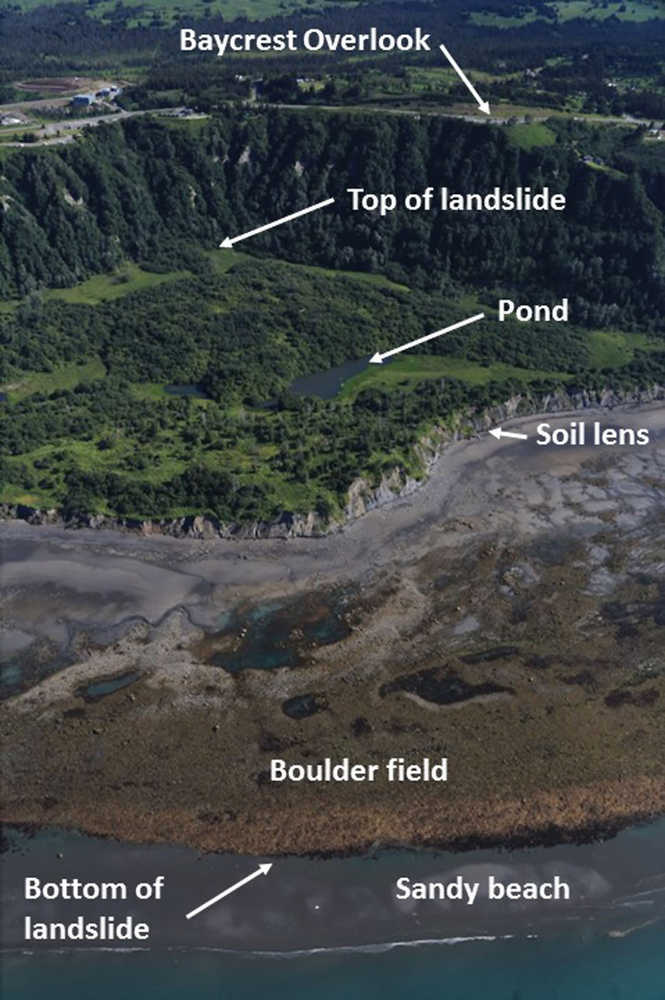
<path fill-rule="evenodd" d="M 470 409 L 562 385 L 662 382 L 661 158 L 634 129 L 575 123 L 557 139 L 529 151 L 509 130 L 435 117 L 228 109 L 8 153 L 0 499 L 67 513 L 326 518 L 357 476 L 421 471 L 419 437 Z M 592 169 L 586 148 L 613 166 Z M 351 212 L 345 193 L 428 184 L 549 185 L 568 207 L 381 219 Z M 243 252 L 217 249 L 329 195 L 332 208 Z M 500 324 L 506 293 L 568 296 L 571 322 Z M 433 341 L 424 358 L 371 366 L 333 399 L 289 392 L 297 376 L 480 310 L 483 323 Z"/>

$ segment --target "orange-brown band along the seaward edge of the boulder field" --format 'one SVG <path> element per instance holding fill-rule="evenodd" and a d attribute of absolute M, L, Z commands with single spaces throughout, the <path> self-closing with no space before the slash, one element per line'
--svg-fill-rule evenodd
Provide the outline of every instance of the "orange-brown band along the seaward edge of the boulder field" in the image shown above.
<path fill-rule="evenodd" d="M 182 807 L 166 811 L 153 806 L 148 817 L 143 808 L 124 803 L 120 810 L 113 802 L 101 809 L 91 803 L 92 811 L 76 807 L 61 811 L 49 802 L 32 806 L 24 802 L 22 808 L 5 810 L 0 822 L 37 832 L 56 826 L 138 846 L 178 844 L 205 854 L 334 860 L 377 851 L 465 855 L 477 850 L 510 853 L 582 846 L 613 840 L 626 829 L 648 826 L 665 816 L 665 785 L 655 778 L 558 792 L 534 790 L 528 803 L 526 798 L 472 801 L 463 796 L 442 803 L 418 794 L 415 806 L 402 790 L 394 795 L 384 789 L 371 805 L 362 806 L 346 795 L 324 804 L 310 789 L 300 797 L 297 790 L 288 789 L 280 802 L 279 793 L 269 791 L 271 795 L 259 794 L 258 799 L 246 793 L 246 812 L 233 819 L 218 816 L 212 827 Z M 400 820 L 401 813 L 414 808 L 419 810 L 415 824 Z M 590 815 L 602 818 L 591 820 Z M 358 830 L 371 828 L 372 835 L 354 836 L 350 831 L 355 825 Z M 442 829 L 451 832 L 437 832 Z"/>

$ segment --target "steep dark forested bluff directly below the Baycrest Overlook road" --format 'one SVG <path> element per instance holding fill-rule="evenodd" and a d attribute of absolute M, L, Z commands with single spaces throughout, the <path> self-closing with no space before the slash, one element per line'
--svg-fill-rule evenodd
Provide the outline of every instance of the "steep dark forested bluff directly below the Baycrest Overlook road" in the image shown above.
<path fill-rule="evenodd" d="M 228 109 L 197 124 L 130 120 L 60 151 L 9 155 L 0 293 L 72 284 L 125 256 L 174 264 L 187 243 L 213 247 L 334 195 L 332 210 L 251 249 L 421 287 L 568 295 L 578 322 L 657 328 L 665 308 L 662 168 L 631 163 L 626 177 L 594 171 L 570 145 L 525 151 L 499 129 L 440 118 Z M 352 213 L 345 194 L 428 184 L 462 192 L 549 185 L 568 206 L 380 219 Z"/>

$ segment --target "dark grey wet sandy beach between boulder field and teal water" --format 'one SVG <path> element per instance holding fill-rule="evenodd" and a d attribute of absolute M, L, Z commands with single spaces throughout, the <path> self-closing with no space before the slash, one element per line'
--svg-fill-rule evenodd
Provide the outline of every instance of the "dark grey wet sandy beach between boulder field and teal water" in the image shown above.
<path fill-rule="evenodd" d="M 623 831 L 612 841 L 582 846 L 529 848 L 506 853 L 478 849 L 470 855 L 450 852 L 381 850 L 345 859 L 281 858 L 268 879 L 234 894 L 191 924 L 184 920 L 190 906 L 206 899 L 213 887 L 237 880 L 256 864 L 253 856 L 200 855 L 177 845 L 145 847 L 68 833 L 57 828 L 34 836 L 9 830 L 5 869 L 3 940 L 20 946 L 22 919 L 75 919 L 81 903 L 32 903 L 20 891 L 24 874 L 51 880 L 76 875 L 82 881 L 121 874 L 134 879 L 165 876 L 163 902 L 116 904 L 120 916 L 128 909 L 135 919 L 151 924 L 150 950 L 213 948 L 236 954 L 261 952 L 332 952 L 348 948 L 385 950 L 423 941 L 453 943 L 460 938 L 515 939 L 556 937 L 574 928 L 580 918 L 593 922 L 599 934 L 629 934 L 644 915 L 634 904 L 650 907 L 651 920 L 664 919 L 663 820 Z M 11 861 L 11 865 L 9 862 Z M 55 866 L 55 867 L 54 867 Z M 486 883 L 489 873 L 500 881 L 542 881 L 554 873 L 571 888 L 559 903 L 491 902 L 481 890 L 474 906 L 464 901 L 400 901 L 396 879 L 452 881 L 457 877 Z M 269 895 L 267 896 L 266 893 Z M 44 912 L 46 911 L 46 912 Z M 85 904 L 93 917 L 109 912 L 108 903 Z M 48 916 L 47 916 L 48 914 Z M 63 950 L 61 944 L 38 947 L 41 954 Z M 88 950 L 85 946 L 76 950 Z M 94 949 L 94 946 L 92 948 Z"/>

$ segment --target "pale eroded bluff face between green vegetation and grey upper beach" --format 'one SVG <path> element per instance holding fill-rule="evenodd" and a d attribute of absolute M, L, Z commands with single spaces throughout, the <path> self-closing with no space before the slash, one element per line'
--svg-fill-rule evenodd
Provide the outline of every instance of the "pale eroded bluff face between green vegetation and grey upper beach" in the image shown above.
<path fill-rule="evenodd" d="M 383 474 L 378 483 L 367 478 L 354 479 L 350 484 L 343 515 L 325 519 L 315 511 L 298 513 L 284 511 L 273 521 L 224 523 L 207 515 L 149 520 L 110 517 L 105 514 L 77 512 L 64 517 L 57 509 L 29 507 L 24 504 L 0 504 L 0 518 L 26 521 L 28 524 L 61 525 L 65 528 L 98 528 L 127 531 L 140 535 L 169 535 L 174 538 L 316 538 L 339 531 L 369 510 L 384 507 L 408 496 L 427 478 L 432 465 L 444 449 L 457 441 L 486 433 L 503 421 L 536 413 L 562 413 L 586 409 L 613 409 L 616 406 L 646 405 L 665 399 L 665 387 L 652 385 L 645 389 L 618 391 L 602 389 L 567 392 L 559 389 L 545 396 L 528 393 L 511 396 L 504 403 L 480 413 L 460 413 L 447 426 L 435 426 L 416 445 L 421 474 L 409 475 L 400 466 Z"/>

